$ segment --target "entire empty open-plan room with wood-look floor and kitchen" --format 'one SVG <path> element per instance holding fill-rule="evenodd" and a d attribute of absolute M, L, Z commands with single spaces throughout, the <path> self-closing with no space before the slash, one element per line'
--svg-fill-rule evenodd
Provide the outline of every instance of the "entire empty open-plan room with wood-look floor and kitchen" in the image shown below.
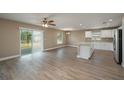
<path fill-rule="evenodd" d="M 0 14 L 1 79 L 123 79 L 122 52 L 118 51 L 118 48 L 122 51 L 122 41 L 116 40 L 118 30 L 122 32 L 123 16 L 123 13 Z M 72 67 L 73 62 L 76 68 Z M 23 69 L 15 64 L 23 64 Z M 34 64 L 35 73 L 29 74 L 33 66 L 30 64 Z M 79 64 L 82 67 L 88 64 L 88 67 L 82 69 Z M 44 69 L 37 71 L 36 65 Z M 67 67 L 55 70 L 58 65 Z M 87 69 L 94 69 L 94 65 L 96 71 Z M 11 73 L 6 72 L 7 66 Z M 77 76 L 71 69 L 82 75 Z M 119 69 L 120 73 L 116 73 Z M 18 70 L 22 74 L 16 74 Z"/>

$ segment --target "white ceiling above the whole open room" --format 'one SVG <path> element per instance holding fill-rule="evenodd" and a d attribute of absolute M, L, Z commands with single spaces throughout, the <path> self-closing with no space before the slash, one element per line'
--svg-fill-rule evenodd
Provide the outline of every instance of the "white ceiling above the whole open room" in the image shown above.
<path fill-rule="evenodd" d="M 121 25 L 122 16 L 124 16 L 123 13 L 0 13 L 0 18 L 39 26 L 41 26 L 41 20 L 48 17 L 55 20 L 54 28 L 61 30 L 115 27 Z M 107 23 L 103 24 L 103 22 Z"/>

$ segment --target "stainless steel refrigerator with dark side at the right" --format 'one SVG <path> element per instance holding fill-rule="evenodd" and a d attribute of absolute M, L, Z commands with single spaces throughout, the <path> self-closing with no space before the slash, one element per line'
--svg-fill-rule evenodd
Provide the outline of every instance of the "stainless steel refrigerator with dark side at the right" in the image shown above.
<path fill-rule="evenodd" d="M 114 58 L 117 64 L 122 63 L 122 29 L 117 29 L 114 32 L 113 39 Z"/>

